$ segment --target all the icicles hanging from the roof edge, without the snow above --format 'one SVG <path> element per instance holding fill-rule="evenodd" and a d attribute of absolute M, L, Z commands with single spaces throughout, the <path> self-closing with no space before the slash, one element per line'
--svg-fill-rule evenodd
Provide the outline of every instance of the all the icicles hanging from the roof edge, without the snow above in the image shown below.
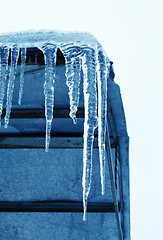
<path fill-rule="evenodd" d="M 60 46 L 44 43 L 36 46 L 45 58 L 45 117 L 46 141 L 48 151 L 50 143 L 51 124 L 54 109 L 54 83 L 57 49 L 60 48 L 66 61 L 66 84 L 69 88 L 70 117 L 77 123 L 76 112 L 79 105 L 79 88 L 81 72 L 83 72 L 83 92 L 85 106 L 84 147 L 83 147 L 83 220 L 86 220 L 87 199 L 91 186 L 92 150 L 94 131 L 98 126 L 98 145 L 100 159 L 100 174 L 102 194 L 105 193 L 105 129 L 107 111 L 107 74 L 109 60 L 101 46 L 91 47 L 88 44 L 65 43 Z M 7 128 L 12 108 L 12 97 L 15 82 L 16 66 L 21 57 L 20 91 L 18 103 L 21 104 L 24 82 L 24 66 L 26 48 L 13 45 L 11 48 L 11 65 L 8 66 L 9 47 L 0 46 L 0 117 L 3 110 L 5 89 L 7 88 L 6 115 L 4 126 Z M 8 72 L 9 68 L 9 73 Z M 98 99 L 98 100 L 97 100 Z M 97 106 L 98 105 L 98 106 Z M 98 116 L 98 117 L 97 117 Z"/>

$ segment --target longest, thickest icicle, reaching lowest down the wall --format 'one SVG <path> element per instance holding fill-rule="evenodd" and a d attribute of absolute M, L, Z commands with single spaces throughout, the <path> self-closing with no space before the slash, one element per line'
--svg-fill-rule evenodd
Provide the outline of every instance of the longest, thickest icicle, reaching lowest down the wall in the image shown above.
<path fill-rule="evenodd" d="M 84 148 L 83 148 L 83 220 L 86 221 L 87 199 L 90 192 L 92 176 L 92 150 L 94 130 L 97 127 L 97 90 L 96 90 L 96 56 L 94 49 L 84 49 L 82 59 L 84 78 Z"/>

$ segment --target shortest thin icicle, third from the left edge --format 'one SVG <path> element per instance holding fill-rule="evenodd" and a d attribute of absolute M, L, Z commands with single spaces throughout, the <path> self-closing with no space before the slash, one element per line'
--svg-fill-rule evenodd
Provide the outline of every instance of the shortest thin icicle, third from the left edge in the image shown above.
<path fill-rule="evenodd" d="M 18 100 L 19 105 L 21 105 L 22 95 L 23 95 L 25 60 L 26 60 L 26 48 L 21 48 L 21 72 L 20 72 L 20 88 L 19 88 L 19 100 Z"/>

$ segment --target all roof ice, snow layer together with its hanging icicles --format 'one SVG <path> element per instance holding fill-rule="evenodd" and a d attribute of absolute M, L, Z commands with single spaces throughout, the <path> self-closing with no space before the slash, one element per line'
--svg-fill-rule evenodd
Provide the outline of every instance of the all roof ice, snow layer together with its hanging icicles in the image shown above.
<path fill-rule="evenodd" d="M 69 89 L 70 117 L 77 123 L 81 77 L 84 94 L 84 146 L 83 146 L 83 220 L 87 218 L 87 201 L 91 188 L 92 153 L 94 131 L 98 126 L 98 146 L 102 194 L 105 193 L 105 131 L 107 112 L 108 81 L 114 74 L 112 63 L 99 42 L 89 33 L 60 31 L 27 31 L 0 35 L 0 116 L 2 114 L 5 82 L 7 80 L 8 53 L 11 48 L 11 66 L 7 89 L 5 127 L 7 127 L 12 107 L 16 65 L 21 48 L 21 73 L 18 103 L 21 105 L 24 84 L 26 48 L 41 49 L 45 58 L 45 150 L 50 144 L 51 124 L 54 109 L 54 82 L 56 53 L 59 48 L 65 57 L 66 84 Z M 57 91 L 57 90 L 56 90 Z M 98 115 L 98 117 L 97 117 Z"/>

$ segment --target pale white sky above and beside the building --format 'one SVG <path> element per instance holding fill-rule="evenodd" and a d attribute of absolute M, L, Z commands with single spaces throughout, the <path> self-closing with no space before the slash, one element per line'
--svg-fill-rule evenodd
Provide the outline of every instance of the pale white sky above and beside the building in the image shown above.
<path fill-rule="evenodd" d="M 162 240 L 162 0 L 6 0 L 0 33 L 92 33 L 114 62 L 130 136 L 131 239 Z"/>

